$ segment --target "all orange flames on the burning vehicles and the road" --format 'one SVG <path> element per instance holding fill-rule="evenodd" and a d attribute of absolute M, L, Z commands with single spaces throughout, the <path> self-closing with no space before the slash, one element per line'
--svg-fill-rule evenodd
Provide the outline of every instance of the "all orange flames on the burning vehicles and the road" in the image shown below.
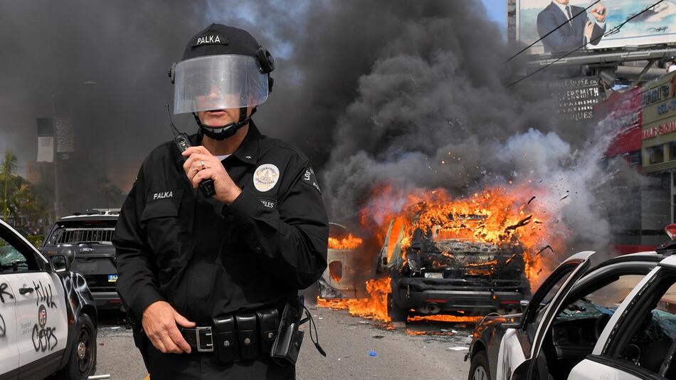
<path fill-rule="evenodd" d="M 431 231 L 435 240 L 489 243 L 500 249 L 519 246 L 524 250 L 525 272 L 534 290 L 546 278 L 558 260 L 544 247 L 554 252 L 564 250 L 567 230 L 552 212 L 547 212 L 546 202 L 534 199 L 549 199 L 544 188 L 532 181 L 509 187 L 493 187 L 471 196 L 454 198 L 443 189 L 428 191 L 418 189 L 408 193 L 397 191 L 392 186 L 374 188 L 369 204 L 360 211 L 361 226 L 366 233 L 386 245 L 388 262 L 393 255 L 405 252 L 413 241 L 417 228 Z M 386 236 L 390 232 L 387 241 Z M 349 241 L 349 236 L 347 239 Z M 361 239 L 354 238 L 361 244 Z M 329 238 L 329 248 L 354 246 Z M 356 248 L 356 246 L 354 246 Z M 349 249 L 349 248 L 348 248 Z M 453 258 L 453 253 L 442 253 Z M 512 260 L 512 259 L 509 259 Z M 497 260 L 473 263 L 477 275 L 490 273 Z M 440 267 L 442 263 L 432 263 Z M 348 310 L 351 315 L 389 322 L 387 294 L 391 292 L 390 278 L 366 282 L 369 297 L 349 300 L 324 300 L 317 298 L 317 306 Z M 410 317 L 409 322 L 431 320 L 440 322 L 476 322 L 480 317 L 431 315 Z M 413 334 L 418 334 L 413 332 Z"/>

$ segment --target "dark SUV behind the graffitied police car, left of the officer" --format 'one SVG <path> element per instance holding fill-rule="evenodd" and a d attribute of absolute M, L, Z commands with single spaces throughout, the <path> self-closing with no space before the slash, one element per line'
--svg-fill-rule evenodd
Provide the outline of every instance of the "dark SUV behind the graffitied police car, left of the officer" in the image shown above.
<path fill-rule="evenodd" d="M 46 255 L 70 259 L 72 270 L 87 280 L 98 310 L 117 310 L 122 305 L 115 290 L 115 247 L 110 242 L 118 215 L 119 209 L 95 209 L 60 218 L 40 248 Z"/>

